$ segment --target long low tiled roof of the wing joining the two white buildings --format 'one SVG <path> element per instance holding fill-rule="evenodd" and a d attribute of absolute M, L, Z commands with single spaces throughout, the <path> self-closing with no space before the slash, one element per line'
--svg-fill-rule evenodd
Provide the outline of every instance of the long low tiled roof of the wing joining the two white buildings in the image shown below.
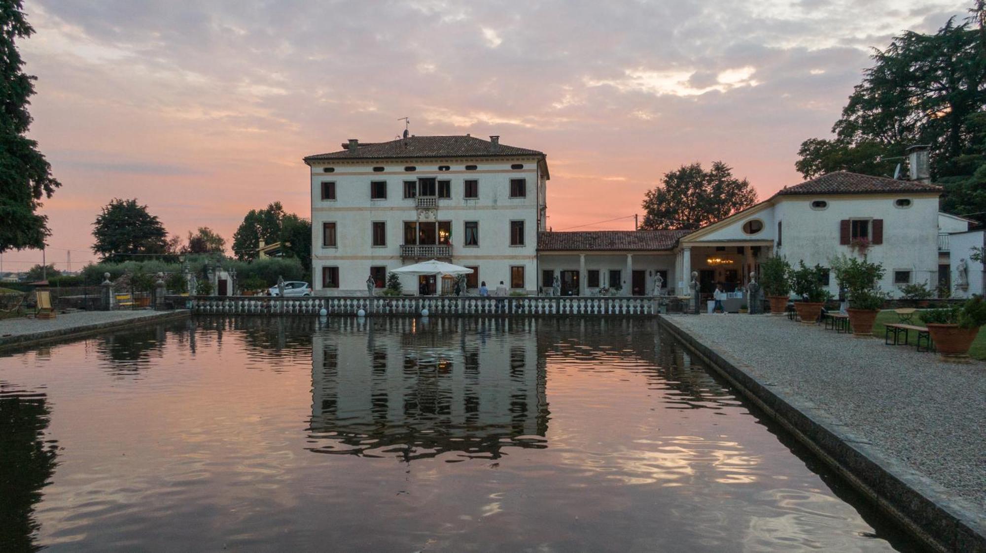
<path fill-rule="evenodd" d="M 538 251 L 671 250 L 694 230 L 585 230 L 538 232 Z"/>

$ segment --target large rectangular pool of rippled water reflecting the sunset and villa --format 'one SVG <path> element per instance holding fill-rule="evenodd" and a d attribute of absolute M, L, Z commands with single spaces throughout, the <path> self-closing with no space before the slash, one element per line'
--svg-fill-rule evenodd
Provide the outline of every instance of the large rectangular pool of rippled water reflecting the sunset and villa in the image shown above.
<path fill-rule="evenodd" d="M 917 550 L 649 320 L 197 318 L 0 356 L 0 550 Z"/>

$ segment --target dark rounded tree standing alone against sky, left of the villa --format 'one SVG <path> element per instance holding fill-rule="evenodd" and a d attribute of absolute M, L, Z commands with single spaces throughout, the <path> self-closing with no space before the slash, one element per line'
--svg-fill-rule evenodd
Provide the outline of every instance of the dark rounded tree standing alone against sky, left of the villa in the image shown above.
<path fill-rule="evenodd" d="M 137 205 L 136 199 L 113 198 L 93 224 L 93 251 L 104 261 L 168 253 L 168 231 L 156 215 L 147 212 L 147 206 Z"/>

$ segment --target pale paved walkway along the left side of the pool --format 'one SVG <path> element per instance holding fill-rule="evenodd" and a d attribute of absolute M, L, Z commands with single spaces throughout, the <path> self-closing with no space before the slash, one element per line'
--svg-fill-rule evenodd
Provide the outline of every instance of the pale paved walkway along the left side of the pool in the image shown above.
<path fill-rule="evenodd" d="M 75 334 L 109 330 L 147 323 L 156 319 L 176 317 L 187 311 L 77 311 L 59 313 L 54 319 L 25 317 L 0 320 L 0 347 L 36 339 L 69 338 Z"/>

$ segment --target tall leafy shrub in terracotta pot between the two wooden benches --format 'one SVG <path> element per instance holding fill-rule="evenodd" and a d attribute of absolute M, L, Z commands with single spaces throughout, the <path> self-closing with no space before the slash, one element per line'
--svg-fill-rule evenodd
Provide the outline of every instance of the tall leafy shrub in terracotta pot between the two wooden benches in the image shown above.
<path fill-rule="evenodd" d="M 870 263 L 864 256 L 856 258 L 836 258 L 831 261 L 835 280 L 840 288 L 846 290 L 849 300 L 849 324 L 853 328 L 853 336 L 857 338 L 872 337 L 873 324 L 886 294 L 880 291 L 878 282 L 885 271 L 879 263 Z"/>

